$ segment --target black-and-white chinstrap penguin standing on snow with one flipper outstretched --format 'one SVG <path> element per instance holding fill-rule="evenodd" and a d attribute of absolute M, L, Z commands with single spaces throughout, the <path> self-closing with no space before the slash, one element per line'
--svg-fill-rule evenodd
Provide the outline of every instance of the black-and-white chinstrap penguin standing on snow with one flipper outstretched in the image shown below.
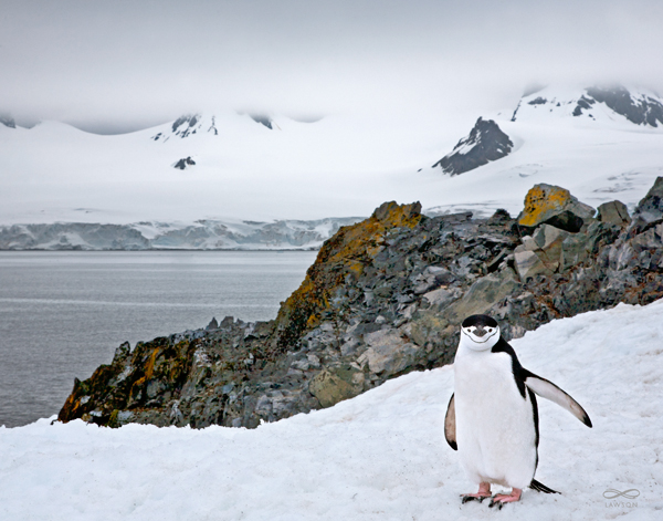
<path fill-rule="evenodd" d="M 511 487 L 495 494 L 490 507 L 518 501 L 530 487 L 559 493 L 534 479 L 538 463 L 538 407 L 535 393 L 569 410 L 588 427 L 585 409 L 554 383 L 530 373 L 487 315 L 472 315 L 461 325 L 454 360 L 454 394 L 444 419 L 444 436 L 459 451 L 467 477 L 478 492 L 462 502 L 491 497 L 491 483 Z"/>

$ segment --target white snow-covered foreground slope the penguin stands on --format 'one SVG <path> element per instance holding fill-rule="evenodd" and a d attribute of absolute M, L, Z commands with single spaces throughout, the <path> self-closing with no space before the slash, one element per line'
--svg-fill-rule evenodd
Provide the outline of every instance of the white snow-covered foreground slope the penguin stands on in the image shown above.
<path fill-rule="evenodd" d="M 255 430 L 0 428 L 8 520 L 663 519 L 663 301 L 555 321 L 512 344 L 571 394 L 588 429 L 539 399 L 537 479 L 502 511 L 444 441 L 452 367 L 411 373 L 325 410 Z M 614 497 L 618 492 L 625 496 Z"/>

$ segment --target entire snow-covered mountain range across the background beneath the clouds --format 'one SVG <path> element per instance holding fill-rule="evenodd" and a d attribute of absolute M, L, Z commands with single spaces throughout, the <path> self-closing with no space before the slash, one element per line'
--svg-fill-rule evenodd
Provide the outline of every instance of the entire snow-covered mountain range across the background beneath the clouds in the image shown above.
<path fill-rule="evenodd" d="M 434 125 L 417 114 L 303 123 L 231 111 L 113 136 L 4 124 L 0 225 L 317 221 L 368 216 L 387 200 L 419 200 L 429 215 L 517 213 L 537 183 L 594 207 L 620 199 L 632 209 L 663 174 L 661 107 L 643 90 L 549 86 L 501 112 L 469 107 L 465 123 L 438 115 Z M 444 175 L 440 157 L 467 163 L 482 148 L 484 132 L 459 143 L 477 116 L 513 145 L 492 139 L 501 157 Z"/>

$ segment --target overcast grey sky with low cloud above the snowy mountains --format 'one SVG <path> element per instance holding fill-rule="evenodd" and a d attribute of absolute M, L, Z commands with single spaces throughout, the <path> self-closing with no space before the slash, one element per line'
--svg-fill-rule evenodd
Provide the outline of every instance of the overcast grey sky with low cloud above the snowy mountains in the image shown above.
<path fill-rule="evenodd" d="M 0 112 L 120 132 L 219 107 L 317 116 L 663 91 L 661 0 L 2 0 Z"/>

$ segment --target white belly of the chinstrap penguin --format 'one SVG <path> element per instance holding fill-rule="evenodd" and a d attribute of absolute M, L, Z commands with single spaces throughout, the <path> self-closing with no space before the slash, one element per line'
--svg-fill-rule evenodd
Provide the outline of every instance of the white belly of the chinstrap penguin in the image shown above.
<path fill-rule="evenodd" d="M 523 489 L 536 470 L 536 431 L 529 394 L 518 390 L 506 353 L 459 350 L 454 362 L 456 442 L 476 483 Z"/>

